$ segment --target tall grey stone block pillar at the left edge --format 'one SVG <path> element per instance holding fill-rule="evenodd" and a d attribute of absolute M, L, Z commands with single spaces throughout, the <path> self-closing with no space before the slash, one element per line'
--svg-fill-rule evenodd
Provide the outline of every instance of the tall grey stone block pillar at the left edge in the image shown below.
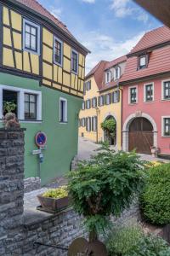
<path fill-rule="evenodd" d="M 24 131 L 0 129 L 0 255 L 23 224 Z"/>

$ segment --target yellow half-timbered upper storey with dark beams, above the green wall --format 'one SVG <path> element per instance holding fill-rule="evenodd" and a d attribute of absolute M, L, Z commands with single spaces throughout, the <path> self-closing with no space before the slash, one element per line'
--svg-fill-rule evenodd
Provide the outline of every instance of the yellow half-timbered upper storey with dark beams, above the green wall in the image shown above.
<path fill-rule="evenodd" d="M 23 49 L 23 20 L 40 27 L 40 53 Z M 0 72 L 38 79 L 40 85 L 82 97 L 88 49 L 52 20 L 18 1 L 0 0 Z M 54 63 L 54 38 L 63 42 L 62 66 Z M 71 72 L 71 50 L 78 54 L 78 72 Z"/>

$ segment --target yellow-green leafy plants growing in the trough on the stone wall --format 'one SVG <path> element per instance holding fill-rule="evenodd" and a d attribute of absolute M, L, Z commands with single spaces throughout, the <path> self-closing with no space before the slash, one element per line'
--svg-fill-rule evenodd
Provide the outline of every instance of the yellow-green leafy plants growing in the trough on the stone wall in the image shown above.
<path fill-rule="evenodd" d="M 68 191 L 66 186 L 59 187 L 57 189 L 48 189 L 42 194 L 44 197 L 52 197 L 55 199 L 63 198 L 68 196 Z"/>

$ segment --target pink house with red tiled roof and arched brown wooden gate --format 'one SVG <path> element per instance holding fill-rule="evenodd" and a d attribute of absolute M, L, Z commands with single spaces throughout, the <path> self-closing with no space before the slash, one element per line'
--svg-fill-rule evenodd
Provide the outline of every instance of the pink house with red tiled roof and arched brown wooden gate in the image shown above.
<path fill-rule="evenodd" d="M 170 154 L 170 29 L 144 34 L 127 55 L 122 85 L 122 149 Z"/>

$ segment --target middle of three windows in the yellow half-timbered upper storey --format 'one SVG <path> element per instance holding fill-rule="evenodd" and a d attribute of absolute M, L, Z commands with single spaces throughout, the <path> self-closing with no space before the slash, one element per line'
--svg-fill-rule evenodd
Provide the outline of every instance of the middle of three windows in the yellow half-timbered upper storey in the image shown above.
<path fill-rule="evenodd" d="M 62 66 L 62 55 L 63 55 L 63 43 L 58 39 L 54 38 L 54 63 Z"/>

